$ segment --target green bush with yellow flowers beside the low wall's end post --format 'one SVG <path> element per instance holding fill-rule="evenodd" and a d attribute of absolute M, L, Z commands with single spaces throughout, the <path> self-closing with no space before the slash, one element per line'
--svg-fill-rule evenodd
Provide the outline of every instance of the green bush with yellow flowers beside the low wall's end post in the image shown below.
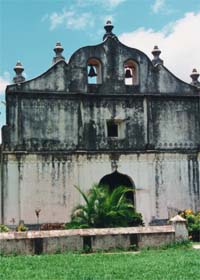
<path fill-rule="evenodd" d="M 194 213 L 191 209 L 186 209 L 181 216 L 187 221 L 189 236 L 193 241 L 200 241 L 200 212 Z"/>

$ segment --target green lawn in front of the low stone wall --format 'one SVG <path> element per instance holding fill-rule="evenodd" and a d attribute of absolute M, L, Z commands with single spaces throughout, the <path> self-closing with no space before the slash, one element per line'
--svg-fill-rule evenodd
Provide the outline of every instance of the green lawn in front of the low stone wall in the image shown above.
<path fill-rule="evenodd" d="M 1 280 L 199 280 L 200 250 L 0 257 Z"/>

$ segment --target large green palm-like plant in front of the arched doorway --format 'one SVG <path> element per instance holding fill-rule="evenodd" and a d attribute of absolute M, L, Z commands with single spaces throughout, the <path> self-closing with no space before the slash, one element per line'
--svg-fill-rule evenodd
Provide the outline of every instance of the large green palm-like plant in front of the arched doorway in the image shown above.
<path fill-rule="evenodd" d="M 106 186 L 94 185 L 89 193 L 76 187 L 84 199 L 84 205 L 78 205 L 71 216 L 67 228 L 104 228 L 143 225 L 141 214 L 135 211 L 126 194 L 133 192 L 124 186 L 112 192 Z"/>

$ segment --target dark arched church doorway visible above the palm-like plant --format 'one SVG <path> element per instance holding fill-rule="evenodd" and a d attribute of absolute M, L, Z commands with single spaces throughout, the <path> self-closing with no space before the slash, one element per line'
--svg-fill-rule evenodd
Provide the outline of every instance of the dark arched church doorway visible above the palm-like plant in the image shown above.
<path fill-rule="evenodd" d="M 108 186 L 111 192 L 119 186 L 125 186 L 133 190 L 135 189 L 135 185 L 131 178 L 125 174 L 119 173 L 118 171 L 114 171 L 111 174 L 105 175 L 103 178 L 101 178 L 99 185 Z M 134 204 L 133 192 L 128 192 L 126 197 Z"/>

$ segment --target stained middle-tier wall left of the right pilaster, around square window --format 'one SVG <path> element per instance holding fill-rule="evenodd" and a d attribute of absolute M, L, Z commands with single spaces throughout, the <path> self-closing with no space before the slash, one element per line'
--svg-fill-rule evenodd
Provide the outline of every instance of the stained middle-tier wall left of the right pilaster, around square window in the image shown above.
<path fill-rule="evenodd" d="M 8 122 L 12 128 L 9 149 L 115 150 L 144 148 L 146 144 L 142 98 L 126 102 L 113 98 L 23 96 L 14 102 L 13 96 L 9 96 L 8 102 Z M 115 117 L 123 122 L 122 136 L 109 139 L 106 120 Z"/>

